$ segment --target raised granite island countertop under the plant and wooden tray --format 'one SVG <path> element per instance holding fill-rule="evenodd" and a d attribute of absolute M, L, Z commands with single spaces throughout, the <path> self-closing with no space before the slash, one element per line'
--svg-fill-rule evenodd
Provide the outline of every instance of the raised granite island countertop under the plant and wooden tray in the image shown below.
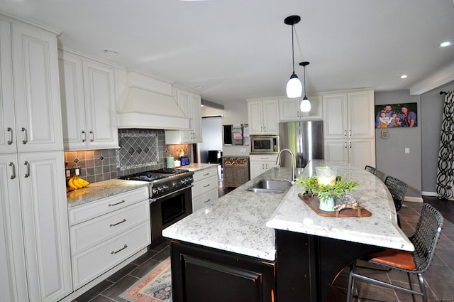
<path fill-rule="evenodd" d="M 298 197 L 303 189 L 293 185 L 277 208 L 267 227 L 288 230 L 351 242 L 372 244 L 379 247 L 413 251 L 414 246 L 397 225 L 394 203 L 384 183 L 361 168 L 341 162 L 311 161 L 304 169 L 303 177 L 314 174 L 314 168 L 327 164 L 338 168 L 338 176 L 347 173 L 350 180 L 359 180 L 358 188 L 351 192 L 361 201 L 362 207 L 372 212 L 371 217 L 322 217 L 304 204 Z"/>

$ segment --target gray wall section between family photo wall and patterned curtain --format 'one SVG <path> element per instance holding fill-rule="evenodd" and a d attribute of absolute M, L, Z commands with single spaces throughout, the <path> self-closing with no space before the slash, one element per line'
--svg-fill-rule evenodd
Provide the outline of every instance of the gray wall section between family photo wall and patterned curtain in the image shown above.
<path fill-rule="evenodd" d="M 423 195 L 436 196 L 438 148 L 445 96 L 440 91 L 453 91 L 454 82 L 421 95 L 421 143 Z"/>

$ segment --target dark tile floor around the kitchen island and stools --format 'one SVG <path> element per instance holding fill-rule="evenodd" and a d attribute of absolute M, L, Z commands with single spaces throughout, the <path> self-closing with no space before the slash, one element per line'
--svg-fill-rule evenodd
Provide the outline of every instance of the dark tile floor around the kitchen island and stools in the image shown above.
<path fill-rule="evenodd" d="M 232 190 L 228 188 L 224 191 L 222 184 L 218 188 L 220 196 Z M 454 301 L 454 202 L 430 197 L 424 197 L 423 199 L 425 203 L 430 203 L 440 210 L 445 218 L 445 225 L 441 232 L 441 239 L 438 242 L 435 259 L 431 268 L 424 274 L 428 299 L 429 301 Z M 408 236 L 414 231 L 421 207 L 422 203 L 405 203 L 404 207 L 399 211 L 402 230 Z M 127 288 L 169 256 L 170 249 L 167 242 L 165 242 L 158 247 L 150 249 L 147 254 L 128 264 L 121 271 L 102 281 L 74 301 L 123 302 L 125 300 L 118 297 L 118 295 L 126 291 Z M 372 271 L 372 274 L 375 274 L 377 278 L 391 280 L 397 284 L 402 284 L 402 281 L 406 281 L 406 275 L 401 272 L 388 273 Z M 345 301 L 347 284 L 348 269 L 344 269 L 333 284 L 331 290 L 332 301 Z M 411 301 L 409 294 L 395 292 L 390 288 L 380 288 L 379 286 L 364 284 L 362 282 L 358 284 L 358 288 L 360 288 L 360 296 L 370 298 L 354 298 L 354 301 Z M 421 301 L 421 298 L 416 297 L 416 301 Z"/>

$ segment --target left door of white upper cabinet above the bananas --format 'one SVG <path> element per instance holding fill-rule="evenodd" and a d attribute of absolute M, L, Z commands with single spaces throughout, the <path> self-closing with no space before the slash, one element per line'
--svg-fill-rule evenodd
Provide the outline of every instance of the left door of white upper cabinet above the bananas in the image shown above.
<path fill-rule="evenodd" d="M 63 146 L 83 150 L 87 146 L 82 60 L 60 51 L 60 95 L 62 99 Z"/>

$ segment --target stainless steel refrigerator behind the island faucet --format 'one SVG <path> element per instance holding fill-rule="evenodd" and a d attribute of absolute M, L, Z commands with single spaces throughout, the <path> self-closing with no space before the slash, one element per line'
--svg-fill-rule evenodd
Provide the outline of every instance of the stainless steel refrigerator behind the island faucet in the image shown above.
<path fill-rule="evenodd" d="M 304 168 L 311 159 L 323 159 L 323 121 L 279 123 L 279 148 L 294 153 L 296 168 Z M 290 167 L 288 152 L 281 155 L 281 166 Z"/>

